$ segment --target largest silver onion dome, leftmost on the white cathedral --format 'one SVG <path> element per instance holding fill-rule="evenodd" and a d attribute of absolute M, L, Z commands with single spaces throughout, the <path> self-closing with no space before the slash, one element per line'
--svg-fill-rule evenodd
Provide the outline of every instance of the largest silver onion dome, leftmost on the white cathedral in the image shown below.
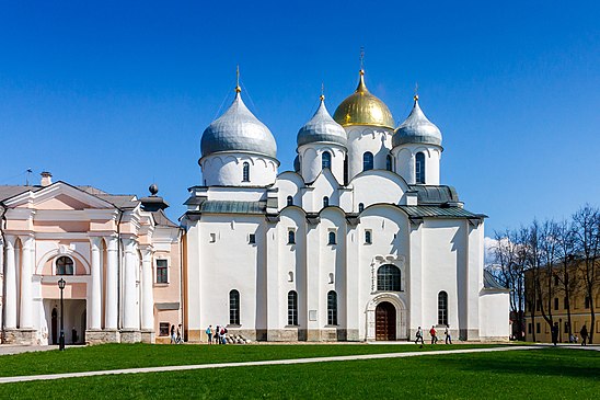
<path fill-rule="evenodd" d="M 277 144 L 265 124 L 247 110 L 238 91 L 231 106 L 203 133 L 200 151 L 203 157 L 219 151 L 243 151 L 276 158 Z"/>

